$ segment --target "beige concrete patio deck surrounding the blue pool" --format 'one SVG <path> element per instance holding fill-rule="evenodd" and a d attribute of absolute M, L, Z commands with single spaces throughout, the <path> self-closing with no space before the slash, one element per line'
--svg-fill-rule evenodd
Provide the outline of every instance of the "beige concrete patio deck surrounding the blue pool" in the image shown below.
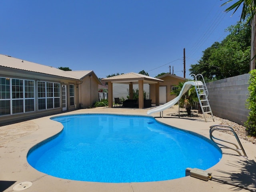
<path fill-rule="evenodd" d="M 146 112 L 147 110 L 145 109 L 92 108 L 66 112 L 64 114 L 108 113 L 146 115 Z M 209 127 L 214 124 L 220 124 L 220 122 L 204 122 L 203 120 L 189 120 L 167 116 L 167 114 L 172 112 L 177 112 L 177 108 L 165 110 L 164 118 L 159 118 L 159 113 L 153 114 L 153 116 L 160 122 L 196 132 L 207 138 L 209 138 Z M 50 120 L 50 117 L 52 116 L 0 127 L 0 191 L 11 192 L 13 191 L 13 186 L 26 181 L 32 182 L 32 186 L 24 190 L 26 192 L 246 191 L 228 184 L 213 180 L 203 181 L 190 176 L 159 182 L 99 183 L 66 180 L 38 172 L 28 164 L 26 156 L 32 146 L 62 130 L 62 124 Z M 234 136 L 223 132 L 218 132 L 218 137 L 235 141 Z M 233 184 L 240 184 L 253 190 L 256 189 L 256 145 L 245 140 L 241 140 L 241 142 L 248 158 L 238 156 L 236 152 L 222 148 L 222 159 L 218 164 L 209 168 L 207 172 L 211 172 L 214 178 Z"/>

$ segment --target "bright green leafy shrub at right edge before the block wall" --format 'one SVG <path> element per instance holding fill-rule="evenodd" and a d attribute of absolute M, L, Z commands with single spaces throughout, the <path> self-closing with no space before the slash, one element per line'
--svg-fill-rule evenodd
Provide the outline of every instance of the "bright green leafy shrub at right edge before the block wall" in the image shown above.
<path fill-rule="evenodd" d="M 256 136 L 256 70 L 252 70 L 249 73 L 249 96 L 246 100 L 246 106 L 250 112 L 244 126 L 246 127 L 248 134 Z"/>

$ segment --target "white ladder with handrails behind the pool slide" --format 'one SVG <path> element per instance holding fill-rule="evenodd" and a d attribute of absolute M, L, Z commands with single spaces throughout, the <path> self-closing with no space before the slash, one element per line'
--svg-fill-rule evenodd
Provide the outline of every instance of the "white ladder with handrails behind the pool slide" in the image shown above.
<path fill-rule="evenodd" d="M 204 115 L 204 120 L 205 122 L 207 122 L 207 119 L 212 119 L 214 121 L 214 117 L 212 115 L 212 109 L 210 107 L 209 104 L 209 100 L 208 100 L 208 89 L 206 87 L 205 81 L 204 81 L 204 77 L 202 76 L 202 74 L 192 74 L 195 76 L 195 81 L 198 82 L 198 79 L 200 80 L 200 78 L 202 78 L 202 84 L 197 83 L 195 85 L 196 88 L 196 94 L 198 96 L 198 101 L 200 103 L 200 107 L 202 109 L 202 113 Z M 211 117 L 206 118 L 206 114 L 209 114 Z"/>

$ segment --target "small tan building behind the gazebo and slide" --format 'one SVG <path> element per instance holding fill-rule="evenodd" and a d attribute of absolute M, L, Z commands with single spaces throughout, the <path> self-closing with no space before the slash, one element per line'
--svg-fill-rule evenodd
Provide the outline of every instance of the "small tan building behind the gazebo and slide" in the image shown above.
<path fill-rule="evenodd" d="M 170 92 L 176 89 L 176 85 L 178 85 L 179 82 L 184 82 L 186 80 L 183 77 L 172 75 L 170 73 L 157 78 L 163 80 L 163 82 L 159 84 L 159 104 L 165 104 L 166 102 L 173 100 L 176 96 L 171 95 Z M 152 99 L 153 104 L 156 100 L 154 90 L 155 84 L 150 84 L 150 98 Z"/>

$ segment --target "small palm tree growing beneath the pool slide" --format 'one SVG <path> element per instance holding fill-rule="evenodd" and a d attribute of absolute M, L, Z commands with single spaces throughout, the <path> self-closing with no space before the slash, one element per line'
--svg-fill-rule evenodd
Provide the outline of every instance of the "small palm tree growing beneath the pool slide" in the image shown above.
<path fill-rule="evenodd" d="M 184 83 L 185 83 L 185 81 L 179 82 L 179 84 L 176 85 L 176 87 L 178 87 L 178 89 L 172 90 L 172 92 L 170 94 L 172 94 L 172 95 L 174 94 L 174 95 L 178 96 L 180 94 L 180 91 L 182 90 Z M 188 90 L 188 92 L 186 92 L 180 98 L 180 106 L 183 106 L 184 108 L 186 108 L 188 116 L 191 116 L 191 107 L 194 102 L 198 102 L 198 97 L 196 94 L 196 89 L 193 86 L 192 88 L 190 88 L 190 90 Z"/>

